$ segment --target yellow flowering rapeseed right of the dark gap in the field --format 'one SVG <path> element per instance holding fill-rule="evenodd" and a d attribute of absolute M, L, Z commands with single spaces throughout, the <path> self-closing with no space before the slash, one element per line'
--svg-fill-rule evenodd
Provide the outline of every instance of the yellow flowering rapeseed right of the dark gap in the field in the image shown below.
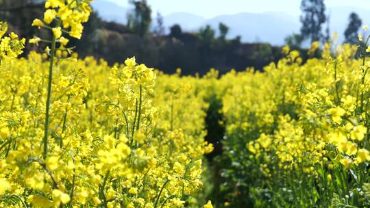
<path fill-rule="evenodd" d="M 370 60 L 361 45 L 314 42 L 308 53 L 321 58 L 304 64 L 284 47 L 286 57 L 263 73 L 221 78 L 225 204 L 369 206 Z"/>

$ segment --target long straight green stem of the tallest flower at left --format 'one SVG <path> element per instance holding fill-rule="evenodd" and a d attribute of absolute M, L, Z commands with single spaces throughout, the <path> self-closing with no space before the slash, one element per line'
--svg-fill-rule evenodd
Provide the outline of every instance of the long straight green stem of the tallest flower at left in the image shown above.
<path fill-rule="evenodd" d="M 48 82 L 48 85 L 47 85 L 47 103 L 46 103 L 46 112 L 45 112 L 45 132 L 44 132 L 44 140 L 42 141 L 42 143 L 44 144 L 44 154 L 43 154 L 44 159 L 46 159 L 46 157 L 47 157 L 47 137 L 49 135 L 49 109 L 50 109 L 50 100 L 51 100 L 51 84 L 52 84 L 52 81 L 53 81 L 53 64 L 54 64 L 54 54 L 55 54 L 55 52 L 56 52 L 56 36 L 53 34 L 53 38 L 51 39 L 49 82 Z"/>

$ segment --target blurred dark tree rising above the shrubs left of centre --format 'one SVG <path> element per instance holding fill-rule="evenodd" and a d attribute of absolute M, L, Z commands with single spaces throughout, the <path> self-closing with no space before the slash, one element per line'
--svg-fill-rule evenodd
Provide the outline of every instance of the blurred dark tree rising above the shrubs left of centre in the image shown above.
<path fill-rule="evenodd" d="M 130 0 L 130 3 L 134 5 L 134 10 L 130 12 L 128 16 L 127 26 L 136 34 L 143 37 L 149 31 L 151 23 L 151 8 L 149 7 L 147 0 Z"/>

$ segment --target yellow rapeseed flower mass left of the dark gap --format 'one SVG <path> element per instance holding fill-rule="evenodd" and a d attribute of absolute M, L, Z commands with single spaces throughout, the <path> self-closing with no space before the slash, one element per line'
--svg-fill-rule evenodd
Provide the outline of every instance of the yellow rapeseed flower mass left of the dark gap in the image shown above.
<path fill-rule="evenodd" d="M 201 159 L 212 151 L 197 79 L 157 77 L 134 58 L 58 64 L 44 159 L 47 66 L 31 53 L 1 80 L 0 207 L 197 205 Z"/>

